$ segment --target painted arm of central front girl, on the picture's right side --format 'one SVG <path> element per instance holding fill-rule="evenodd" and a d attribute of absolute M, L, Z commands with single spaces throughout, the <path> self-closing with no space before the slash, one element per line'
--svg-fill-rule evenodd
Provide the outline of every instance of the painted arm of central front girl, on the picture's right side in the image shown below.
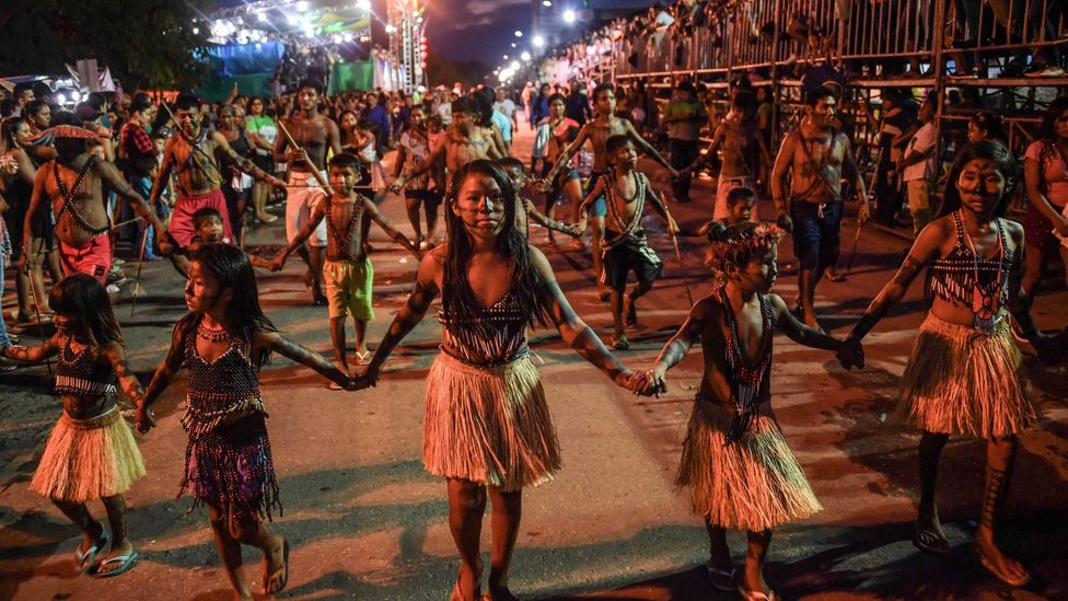
<path fill-rule="evenodd" d="M 560 285 L 556 282 L 553 266 L 549 265 L 542 251 L 531 246 L 531 258 L 534 261 L 535 268 L 542 274 L 542 299 L 548 308 L 553 323 L 560 332 L 560 337 L 564 338 L 564 344 L 578 352 L 590 365 L 603 371 L 617 385 L 627 388 L 634 372 L 605 348 L 601 338 L 571 309 L 571 303 L 560 290 Z"/>

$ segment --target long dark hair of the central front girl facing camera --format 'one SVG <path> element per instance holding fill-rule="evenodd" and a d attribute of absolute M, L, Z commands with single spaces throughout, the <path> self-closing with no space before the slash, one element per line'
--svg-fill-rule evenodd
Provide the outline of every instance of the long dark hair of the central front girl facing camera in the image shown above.
<path fill-rule="evenodd" d="M 504 203 L 504 222 L 497 234 L 497 256 L 511 263 L 511 281 L 508 287 L 519 302 L 524 315 L 530 315 L 530 325 L 548 323 L 548 310 L 542 297 L 544 281 L 534 266 L 531 247 L 523 234 L 515 229 L 515 188 L 504 170 L 494 161 L 478 159 L 460 167 L 452 178 L 449 201 L 445 207 L 445 227 L 449 232 L 449 246 L 445 253 L 445 274 L 441 290 L 441 308 L 445 319 L 455 324 L 451 326 L 463 334 L 483 335 L 485 327 L 484 309 L 475 298 L 467 280 L 471 257 L 474 254 L 471 234 L 464 223 L 452 211 L 457 201 L 460 188 L 472 175 L 488 175 L 500 187 Z"/>

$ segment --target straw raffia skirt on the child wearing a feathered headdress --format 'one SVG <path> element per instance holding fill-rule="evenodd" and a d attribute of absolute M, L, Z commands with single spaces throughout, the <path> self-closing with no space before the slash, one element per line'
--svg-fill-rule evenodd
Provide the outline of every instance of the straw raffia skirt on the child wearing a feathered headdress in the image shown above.
<path fill-rule="evenodd" d="M 675 485 L 689 487 L 694 513 L 712 525 L 759 532 L 823 509 L 769 411 L 762 404 L 748 430 L 724 444 L 734 411 L 694 402 Z"/>

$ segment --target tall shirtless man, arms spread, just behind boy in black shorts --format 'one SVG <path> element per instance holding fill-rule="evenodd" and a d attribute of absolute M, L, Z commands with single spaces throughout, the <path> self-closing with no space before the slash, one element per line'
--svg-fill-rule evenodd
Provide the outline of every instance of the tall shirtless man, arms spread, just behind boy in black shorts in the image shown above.
<path fill-rule="evenodd" d="M 560 154 L 556 160 L 556 164 L 549 170 L 549 173 L 545 176 L 542 182 L 542 192 L 548 192 L 552 187 L 552 182 L 556 181 L 557 174 L 564 166 L 574 157 L 574 153 L 582 148 L 587 141 L 593 148 L 593 171 L 590 173 L 590 181 L 587 183 L 585 195 L 596 186 L 597 180 L 602 175 L 608 173 L 612 167 L 612 161 L 608 158 L 608 153 L 605 151 L 604 143 L 612 136 L 624 135 L 630 138 L 635 143 L 635 147 L 641 152 L 645 152 L 651 157 L 658 163 L 664 165 L 664 167 L 671 172 L 672 178 L 678 177 L 678 172 L 675 171 L 671 163 L 666 159 L 657 152 L 657 149 L 652 147 L 645 138 L 638 135 L 630 122 L 626 119 L 620 119 L 616 117 L 616 92 L 615 88 L 611 83 L 602 83 L 593 89 L 593 103 L 594 107 L 597 109 L 597 117 L 592 122 L 588 122 L 579 130 L 579 137 L 574 139 L 570 146 Z M 593 270 L 596 273 L 597 279 L 597 290 L 601 300 L 607 300 L 610 292 L 601 284 L 601 236 L 604 234 L 604 216 L 608 212 L 607 205 L 605 205 L 604 197 L 599 197 L 592 205 L 592 212 L 590 219 L 590 224 L 593 227 L 592 251 L 593 251 Z M 576 207 L 576 212 L 573 215 L 574 221 L 579 221 L 578 207 Z M 577 247 L 574 250 L 583 250 L 581 240 L 576 241 Z"/>

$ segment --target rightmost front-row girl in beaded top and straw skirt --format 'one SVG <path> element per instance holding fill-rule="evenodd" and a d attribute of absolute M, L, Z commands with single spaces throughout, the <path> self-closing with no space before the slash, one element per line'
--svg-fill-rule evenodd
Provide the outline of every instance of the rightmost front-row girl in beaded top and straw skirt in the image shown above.
<path fill-rule="evenodd" d="M 1023 228 L 1000 217 L 1012 197 L 1017 172 L 1015 160 L 998 141 L 977 142 L 957 155 L 941 217 L 920 232 L 839 357 L 851 362 L 852 349 L 929 267 L 931 309 L 902 377 L 898 405 L 901 417 L 924 432 L 913 543 L 929 553 L 949 551 L 934 506 L 939 455 L 951 435 L 985 439 L 986 495 L 974 548 L 994 576 L 1023 586 L 1031 575 L 1001 552 L 994 536 L 1012 475 L 1017 436 L 1038 420 L 1031 386 L 1020 372 L 1009 313 L 1040 355 L 1048 355 L 1050 345 L 1035 328 L 1020 289 Z"/>

